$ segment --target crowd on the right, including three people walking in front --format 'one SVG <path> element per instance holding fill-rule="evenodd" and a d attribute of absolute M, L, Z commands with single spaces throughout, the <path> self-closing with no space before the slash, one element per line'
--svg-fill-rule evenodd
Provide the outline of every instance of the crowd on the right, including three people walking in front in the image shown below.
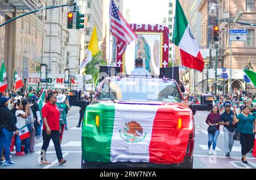
<path fill-rule="evenodd" d="M 252 153 L 256 132 L 256 96 L 243 95 L 234 91 L 232 95 L 214 96 L 213 110 L 208 114 L 208 154 L 216 155 L 216 144 L 220 126 L 224 132 L 224 148 L 226 157 L 230 157 L 236 131 L 240 132 L 242 162 L 247 164 L 246 154 Z M 211 148 L 212 145 L 212 149 Z"/>

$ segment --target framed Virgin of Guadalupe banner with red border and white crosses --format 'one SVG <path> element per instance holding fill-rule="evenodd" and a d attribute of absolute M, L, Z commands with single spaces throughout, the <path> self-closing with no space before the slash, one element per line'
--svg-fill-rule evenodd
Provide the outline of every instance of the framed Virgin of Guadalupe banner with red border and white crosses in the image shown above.
<path fill-rule="evenodd" d="M 124 74 L 130 75 L 135 68 L 135 59 L 142 58 L 143 67 L 152 75 L 159 75 L 161 67 L 168 67 L 169 29 L 159 24 L 130 24 L 138 37 L 127 46 L 123 55 L 117 41 L 117 66 Z"/>

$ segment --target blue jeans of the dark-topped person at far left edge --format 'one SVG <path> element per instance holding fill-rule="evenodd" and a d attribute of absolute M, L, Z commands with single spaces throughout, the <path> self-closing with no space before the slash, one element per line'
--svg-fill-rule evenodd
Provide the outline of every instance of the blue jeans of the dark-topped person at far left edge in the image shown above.
<path fill-rule="evenodd" d="M 5 148 L 5 162 L 10 161 L 10 145 L 11 139 L 13 138 L 13 132 L 7 130 L 5 127 L 2 129 L 0 134 L 0 152 L 2 154 L 3 148 Z"/>

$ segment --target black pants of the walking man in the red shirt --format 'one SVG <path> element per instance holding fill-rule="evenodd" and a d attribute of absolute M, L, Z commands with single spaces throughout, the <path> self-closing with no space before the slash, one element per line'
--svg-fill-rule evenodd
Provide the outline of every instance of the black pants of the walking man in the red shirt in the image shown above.
<path fill-rule="evenodd" d="M 60 132 L 51 131 L 51 135 L 48 136 L 47 132 L 43 130 L 42 135 L 43 135 L 43 146 L 41 149 L 41 160 L 46 160 L 46 151 L 47 151 L 47 148 L 49 147 L 49 142 L 52 139 L 57 158 L 60 161 L 63 158 L 61 148 L 60 148 Z"/>

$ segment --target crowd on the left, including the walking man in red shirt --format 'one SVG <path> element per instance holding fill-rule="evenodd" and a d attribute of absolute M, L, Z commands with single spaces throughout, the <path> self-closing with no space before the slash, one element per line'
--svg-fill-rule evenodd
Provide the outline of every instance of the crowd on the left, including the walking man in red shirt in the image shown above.
<path fill-rule="evenodd" d="M 10 160 L 12 157 L 10 152 L 14 152 L 14 147 L 15 156 L 25 156 L 34 153 L 36 139 L 41 137 L 43 137 L 42 150 L 44 151 L 46 151 L 50 139 L 54 139 L 53 143 L 56 143 L 57 139 L 59 148 L 56 149 L 56 155 L 59 159 L 59 164 L 61 165 L 66 162 L 62 155 L 60 155 L 60 144 L 64 130 L 68 130 L 67 113 L 70 109 L 68 92 L 48 89 L 43 100 L 43 108 L 40 110 L 38 100 L 42 93 L 43 89 L 36 91 L 36 89 L 32 88 L 29 91 L 24 91 L 24 88 L 20 88 L 0 93 L 0 165 L 14 165 L 14 162 Z M 56 98 L 52 100 L 52 97 Z M 55 118 L 52 118 L 52 109 L 47 109 L 49 105 L 55 106 Z M 22 131 L 20 130 L 25 126 L 29 136 L 21 135 Z M 56 126 L 57 132 L 55 132 Z M 48 128 L 51 130 L 49 135 Z M 46 153 L 43 154 L 46 155 Z M 5 163 L 3 163 L 4 161 Z M 44 157 L 42 157 L 40 163 L 49 164 Z"/>

